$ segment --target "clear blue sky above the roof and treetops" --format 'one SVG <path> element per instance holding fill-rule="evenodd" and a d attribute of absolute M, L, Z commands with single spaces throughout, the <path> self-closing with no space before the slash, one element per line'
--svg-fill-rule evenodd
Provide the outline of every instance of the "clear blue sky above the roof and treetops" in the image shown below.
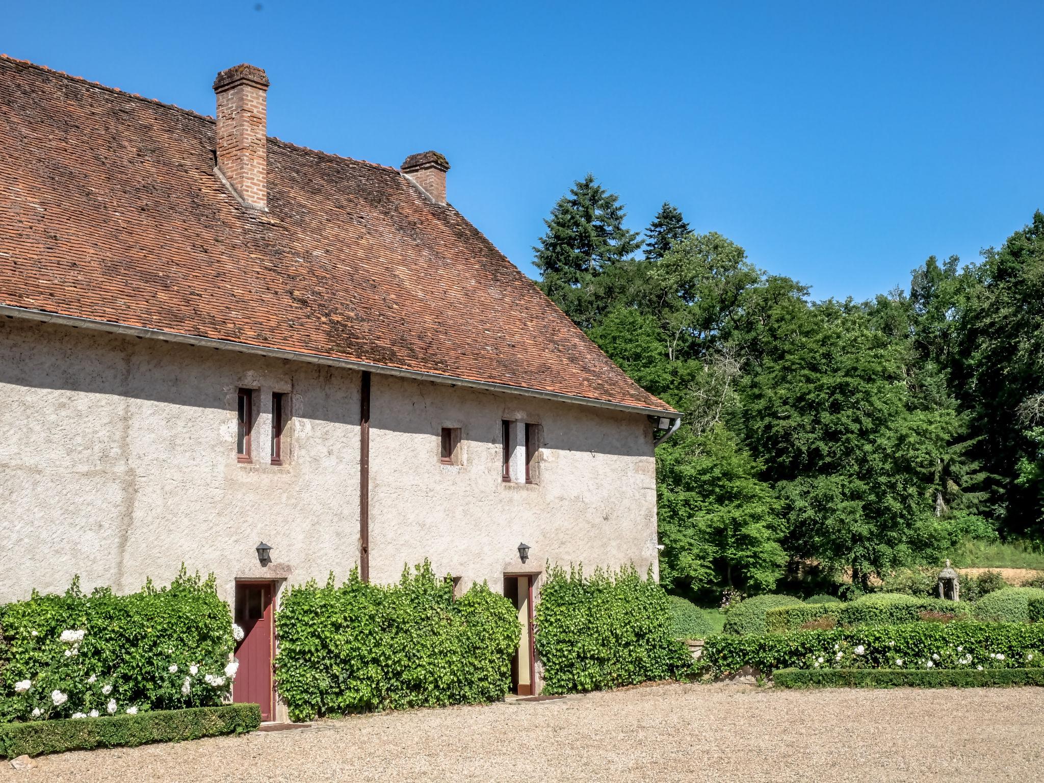
<path fill-rule="evenodd" d="M 591 171 L 644 228 L 662 201 L 816 298 L 976 258 L 1044 208 L 1044 3 L 9 3 L 0 51 L 213 114 L 266 69 L 268 132 L 398 165 L 524 271 Z"/>

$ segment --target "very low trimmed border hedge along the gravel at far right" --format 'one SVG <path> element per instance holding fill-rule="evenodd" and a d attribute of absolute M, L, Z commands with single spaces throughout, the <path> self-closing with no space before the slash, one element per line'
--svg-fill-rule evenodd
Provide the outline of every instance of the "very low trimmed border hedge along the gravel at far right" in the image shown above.
<path fill-rule="evenodd" d="M 1044 669 L 780 669 L 780 688 L 987 688 L 1044 685 Z"/>

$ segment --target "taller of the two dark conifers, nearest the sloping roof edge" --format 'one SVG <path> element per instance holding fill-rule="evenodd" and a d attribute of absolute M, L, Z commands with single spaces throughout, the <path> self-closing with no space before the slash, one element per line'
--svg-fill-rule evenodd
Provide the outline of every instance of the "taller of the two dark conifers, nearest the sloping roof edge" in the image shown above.
<path fill-rule="evenodd" d="M 533 246 L 541 289 L 582 326 L 590 325 L 597 309 L 594 281 L 641 246 L 638 233 L 623 228 L 619 200 L 588 174 L 554 205 L 544 220 L 547 232 Z"/>

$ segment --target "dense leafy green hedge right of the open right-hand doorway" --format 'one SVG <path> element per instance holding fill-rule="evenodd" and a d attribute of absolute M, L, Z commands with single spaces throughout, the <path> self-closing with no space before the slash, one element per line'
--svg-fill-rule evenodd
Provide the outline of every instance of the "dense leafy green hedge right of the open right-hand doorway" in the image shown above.
<path fill-rule="evenodd" d="M 632 567 L 619 574 L 548 568 L 537 604 L 546 693 L 577 693 L 688 677 L 692 656 L 673 638 L 667 594 Z"/>

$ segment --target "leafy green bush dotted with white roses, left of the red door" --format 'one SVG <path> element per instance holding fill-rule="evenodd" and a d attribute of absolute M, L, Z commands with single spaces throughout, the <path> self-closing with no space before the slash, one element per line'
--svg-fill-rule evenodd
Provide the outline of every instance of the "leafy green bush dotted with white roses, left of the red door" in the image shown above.
<path fill-rule="evenodd" d="M 184 568 L 169 588 L 147 583 L 132 595 L 108 588 L 87 595 L 78 579 L 65 595 L 34 593 L 0 607 L 0 723 L 216 706 L 234 675 L 226 671 L 229 607 L 213 576 L 201 580 Z M 25 681 L 31 685 L 20 693 Z"/>

